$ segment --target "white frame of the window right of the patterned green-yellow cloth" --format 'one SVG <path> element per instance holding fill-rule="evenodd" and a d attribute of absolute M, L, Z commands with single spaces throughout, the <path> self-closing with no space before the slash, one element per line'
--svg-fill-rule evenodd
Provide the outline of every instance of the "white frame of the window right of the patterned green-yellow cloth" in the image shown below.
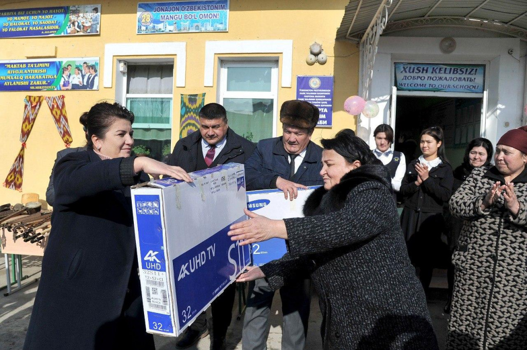
<path fill-rule="evenodd" d="M 263 58 L 263 57 L 262 57 Z M 270 67 L 271 91 L 227 91 L 227 69 L 229 67 Z M 220 61 L 219 102 L 224 98 L 268 98 L 273 100 L 272 137 L 277 135 L 278 122 L 278 62 L 277 61 Z"/>

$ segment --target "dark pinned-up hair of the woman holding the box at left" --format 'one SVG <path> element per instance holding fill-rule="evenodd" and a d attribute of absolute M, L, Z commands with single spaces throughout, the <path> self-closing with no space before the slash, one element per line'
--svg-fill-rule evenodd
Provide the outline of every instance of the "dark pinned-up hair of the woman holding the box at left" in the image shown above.
<path fill-rule="evenodd" d="M 131 124 L 134 115 L 119 103 L 99 102 L 90 108 L 90 111 L 81 115 L 80 122 L 84 125 L 86 133 L 86 147 L 93 148 L 92 135 L 104 138 L 104 134 L 116 118 L 126 119 Z"/>

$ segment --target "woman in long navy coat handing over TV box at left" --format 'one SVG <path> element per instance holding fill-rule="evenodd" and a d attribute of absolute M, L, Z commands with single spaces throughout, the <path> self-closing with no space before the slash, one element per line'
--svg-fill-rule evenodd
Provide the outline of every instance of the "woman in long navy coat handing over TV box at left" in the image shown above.
<path fill-rule="evenodd" d="M 81 116 L 87 151 L 54 174 L 52 229 L 24 349 L 153 349 L 145 332 L 130 186 L 183 169 L 131 157 L 133 113 L 95 104 Z"/>

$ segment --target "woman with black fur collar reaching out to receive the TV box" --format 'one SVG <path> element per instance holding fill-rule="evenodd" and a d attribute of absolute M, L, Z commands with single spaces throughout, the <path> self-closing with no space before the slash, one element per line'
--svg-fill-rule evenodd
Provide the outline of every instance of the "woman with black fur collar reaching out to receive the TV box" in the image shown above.
<path fill-rule="evenodd" d="M 246 211 L 250 219 L 231 226 L 241 245 L 287 239 L 285 257 L 249 268 L 238 281 L 265 277 L 276 290 L 309 271 L 324 349 L 437 349 L 387 169 L 349 133 L 321 144 L 324 186 L 307 199 L 306 217 L 270 220 Z"/>

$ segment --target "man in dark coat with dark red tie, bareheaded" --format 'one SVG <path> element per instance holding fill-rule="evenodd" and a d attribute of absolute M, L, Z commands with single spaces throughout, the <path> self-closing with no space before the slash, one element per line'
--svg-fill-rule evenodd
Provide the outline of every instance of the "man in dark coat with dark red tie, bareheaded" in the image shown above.
<path fill-rule="evenodd" d="M 255 145 L 239 136 L 227 124 L 227 111 L 222 105 L 209 103 L 199 112 L 199 131 L 180 139 L 174 146 L 167 164 L 194 172 L 226 163 L 245 163 L 255 150 Z M 212 302 L 211 349 L 225 349 L 225 336 L 232 318 L 232 306 L 236 294 L 233 283 Z M 207 316 L 203 312 L 187 328 L 176 344 L 187 348 L 208 334 Z"/>

